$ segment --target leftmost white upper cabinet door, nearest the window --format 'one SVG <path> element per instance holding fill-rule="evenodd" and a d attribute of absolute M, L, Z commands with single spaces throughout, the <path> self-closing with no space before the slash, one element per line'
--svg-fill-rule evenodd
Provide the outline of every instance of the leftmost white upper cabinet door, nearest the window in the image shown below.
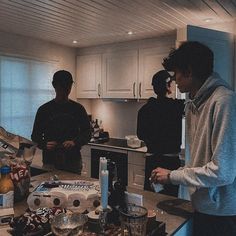
<path fill-rule="evenodd" d="M 78 98 L 101 97 L 101 55 L 77 57 L 76 90 Z"/>

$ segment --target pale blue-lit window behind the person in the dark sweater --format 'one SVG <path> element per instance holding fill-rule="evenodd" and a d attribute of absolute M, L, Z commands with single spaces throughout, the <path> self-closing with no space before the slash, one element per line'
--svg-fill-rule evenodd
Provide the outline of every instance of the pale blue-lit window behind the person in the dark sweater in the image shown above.
<path fill-rule="evenodd" d="M 29 138 L 36 111 L 51 100 L 55 64 L 0 56 L 0 126 Z"/>

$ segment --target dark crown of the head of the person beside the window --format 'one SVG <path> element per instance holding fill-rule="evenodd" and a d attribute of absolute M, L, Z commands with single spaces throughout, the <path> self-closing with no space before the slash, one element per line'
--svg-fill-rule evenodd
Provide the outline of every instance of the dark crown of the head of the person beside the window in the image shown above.
<path fill-rule="evenodd" d="M 73 82 L 71 73 L 66 70 L 59 70 L 55 72 L 52 79 L 52 85 L 54 88 L 57 86 L 68 88 Z"/>

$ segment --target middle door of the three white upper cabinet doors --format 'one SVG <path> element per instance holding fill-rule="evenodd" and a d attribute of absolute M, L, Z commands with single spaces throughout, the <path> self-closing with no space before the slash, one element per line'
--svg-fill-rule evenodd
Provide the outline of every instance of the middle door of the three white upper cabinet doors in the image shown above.
<path fill-rule="evenodd" d="M 138 51 L 115 51 L 103 56 L 103 97 L 137 98 Z"/>

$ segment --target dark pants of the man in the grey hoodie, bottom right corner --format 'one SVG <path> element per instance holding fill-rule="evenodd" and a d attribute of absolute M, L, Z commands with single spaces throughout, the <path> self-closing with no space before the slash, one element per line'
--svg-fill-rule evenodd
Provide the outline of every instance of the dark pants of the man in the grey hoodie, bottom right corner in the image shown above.
<path fill-rule="evenodd" d="M 213 216 L 194 213 L 194 236 L 235 236 L 236 216 Z"/>

